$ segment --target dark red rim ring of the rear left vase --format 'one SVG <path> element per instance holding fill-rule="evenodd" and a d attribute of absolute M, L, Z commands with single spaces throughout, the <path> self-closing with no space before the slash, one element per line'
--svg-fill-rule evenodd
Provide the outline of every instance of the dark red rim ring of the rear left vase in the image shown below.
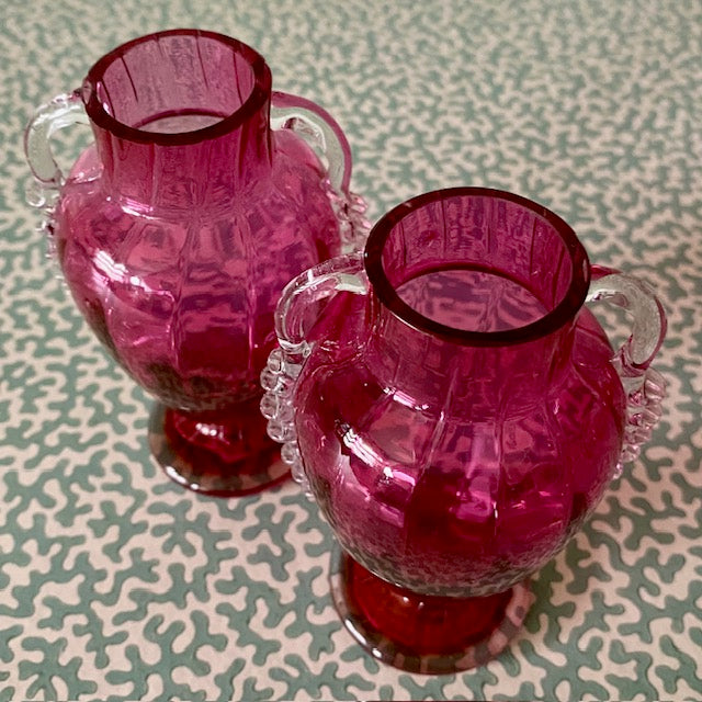
<path fill-rule="evenodd" d="M 127 52 L 135 46 L 154 39 L 159 41 L 168 36 L 207 37 L 228 45 L 233 49 L 233 53 L 239 54 L 249 64 L 253 76 L 253 87 L 246 100 L 234 112 L 217 122 L 200 129 L 191 129 L 188 132 L 149 132 L 139 127 L 129 126 L 111 115 L 98 98 L 95 90 L 98 83 L 104 78 L 107 67 L 125 56 Z M 263 56 L 248 44 L 227 36 L 226 34 L 208 30 L 173 29 L 138 36 L 124 44 L 120 44 L 120 46 L 106 53 L 90 68 L 78 92 L 82 98 L 86 113 L 90 121 L 99 127 L 114 134 L 120 139 L 139 144 L 156 144 L 159 146 L 186 146 L 216 139 L 241 126 L 247 120 L 261 110 L 265 101 L 270 99 L 271 90 L 272 78 L 269 66 Z"/>

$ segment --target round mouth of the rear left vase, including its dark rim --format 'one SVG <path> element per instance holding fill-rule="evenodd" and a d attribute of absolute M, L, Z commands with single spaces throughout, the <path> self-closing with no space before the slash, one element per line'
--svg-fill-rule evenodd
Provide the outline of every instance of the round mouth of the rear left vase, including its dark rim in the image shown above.
<path fill-rule="evenodd" d="M 261 111 L 271 71 L 250 46 L 204 30 L 168 30 L 122 44 L 88 71 L 81 97 L 117 138 L 184 146 L 214 139 Z"/>

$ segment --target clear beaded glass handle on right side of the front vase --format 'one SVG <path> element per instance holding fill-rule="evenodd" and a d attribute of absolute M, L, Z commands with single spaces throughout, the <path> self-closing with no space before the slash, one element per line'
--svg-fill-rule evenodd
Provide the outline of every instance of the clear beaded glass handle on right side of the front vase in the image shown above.
<path fill-rule="evenodd" d="M 593 278 L 587 302 L 605 301 L 627 310 L 632 318 L 631 336 L 612 359 L 626 393 L 626 427 L 616 467 L 619 476 L 625 463 L 638 457 L 663 412 L 666 382 L 650 364 L 666 336 L 666 314 L 644 281 L 624 273 L 597 278 L 597 269 Z"/>

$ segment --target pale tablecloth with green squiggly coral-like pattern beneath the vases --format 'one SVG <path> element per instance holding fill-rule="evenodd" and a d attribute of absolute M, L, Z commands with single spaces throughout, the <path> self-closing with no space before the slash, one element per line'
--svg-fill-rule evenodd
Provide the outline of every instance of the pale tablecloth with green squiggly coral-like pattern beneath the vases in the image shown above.
<path fill-rule="evenodd" d="M 25 0 L 2 15 L 0 700 L 702 698 L 699 0 Z M 667 305 L 663 422 L 484 668 L 421 677 L 365 655 L 329 598 L 330 531 L 295 485 L 216 500 L 170 483 L 146 445 L 151 400 L 45 259 L 26 120 L 110 48 L 173 26 L 245 41 L 275 88 L 328 107 L 372 219 L 435 188 L 512 190 Z"/>

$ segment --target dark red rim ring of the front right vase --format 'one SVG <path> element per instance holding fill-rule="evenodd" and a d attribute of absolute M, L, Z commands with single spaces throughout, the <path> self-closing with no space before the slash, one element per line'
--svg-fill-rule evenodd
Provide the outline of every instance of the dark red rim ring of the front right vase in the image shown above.
<path fill-rule="evenodd" d="M 558 304 L 539 319 L 522 327 L 499 331 L 460 329 L 435 321 L 418 313 L 398 295 L 383 267 L 383 250 L 390 231 L 410 213 L 432 202 L 452 197 L 489 197 L 518 204 L 545 219 L 561 237 L 571 261 L 571 275 L 565 294 Z M 381 217 L 371 229 L 363 252 L 363 263 L 373 294 L 380 303 L 407 326 L 429 336 L 461 346 L 497 347 L 533 341 L 555 332 L 580 310 L 590 286 L 590 261 L 575 230 L 562 217 L 523 195 L 484 186 L 458 186 L 433 190 L 410 197 Z"/>

